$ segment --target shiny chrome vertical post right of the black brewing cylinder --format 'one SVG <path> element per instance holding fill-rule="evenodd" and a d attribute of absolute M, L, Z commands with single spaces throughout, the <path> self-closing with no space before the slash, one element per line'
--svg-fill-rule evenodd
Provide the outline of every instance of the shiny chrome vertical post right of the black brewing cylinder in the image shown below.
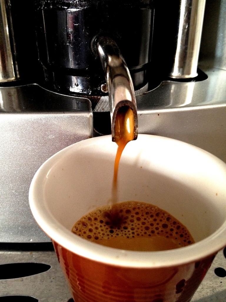
<path fill-rule="evenodd" d="M 171 78 L 187 79 L 197 76 L 205 2 L 180 0 L 176 51 L 169 74 Z"/>

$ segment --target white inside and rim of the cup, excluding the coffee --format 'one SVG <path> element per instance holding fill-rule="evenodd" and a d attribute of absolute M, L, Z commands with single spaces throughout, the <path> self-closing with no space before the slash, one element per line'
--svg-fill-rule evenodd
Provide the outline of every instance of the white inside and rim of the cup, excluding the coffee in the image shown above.
<path fill-rule="evenodd" d="M 116 150 L 110 136 L 93 138 L 61 150 L 42 165 L 31 184 L 29 199 L 33 215 L 47 235 L 92 259 L 120 265 L 137 261 L 135 266 L 188 262 L 226 245 L 224 162 L 186 143 L 141 134 L 123 151 L 118 201 L 157 205 L 187 226 L 196 243 L 183 248 L 183 253 L 180 249 L 125 253 L 71 233 L 80 217 L 110 203 Z M 155 254 L 155 262 L 151 263 L 149 253 Z M 169 255 L 170 260 L 166 259 Z"/>

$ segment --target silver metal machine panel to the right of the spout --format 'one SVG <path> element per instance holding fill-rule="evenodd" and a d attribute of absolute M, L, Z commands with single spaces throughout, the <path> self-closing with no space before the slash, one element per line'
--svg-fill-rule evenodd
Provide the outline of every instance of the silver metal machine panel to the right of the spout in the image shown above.
<path fill-rule="evenodd" d="M 200 63 L 204 81 L 165 81 L 137 96 L 139 133 L 182 140 L 226 162 L 226 71 L 209 66 Z"/>

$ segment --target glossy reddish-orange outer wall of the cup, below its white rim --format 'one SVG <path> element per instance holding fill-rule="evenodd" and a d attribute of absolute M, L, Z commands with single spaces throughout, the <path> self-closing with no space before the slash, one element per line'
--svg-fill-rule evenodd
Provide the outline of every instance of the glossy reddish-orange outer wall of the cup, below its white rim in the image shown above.
<path fill-rule="evenodd" d="M 75 302 L 189 302 L 215 257 L 165 268 L 132 268 L 53 245 Z"/>

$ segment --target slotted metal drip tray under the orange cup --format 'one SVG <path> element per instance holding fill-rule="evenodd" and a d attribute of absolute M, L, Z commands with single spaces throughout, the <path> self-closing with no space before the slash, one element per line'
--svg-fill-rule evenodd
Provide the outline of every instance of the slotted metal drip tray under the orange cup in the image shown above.
<path fill-rule="evenodd" d="M 0 265 L 18 262 L 45 263 L 51 265 L 51 268 L 37 275 L 0 280 L 0 297 L 27 295 L 37 298 L 39 302 L 67 302 L 71 298 L 55 252 L 0 251 Z M 214 269 L 217 267 L 226 269 L 226 259 L 222 251 L 215 257 L 192 302 L 225 302 L 226 277 L 215 275 Z"/>

